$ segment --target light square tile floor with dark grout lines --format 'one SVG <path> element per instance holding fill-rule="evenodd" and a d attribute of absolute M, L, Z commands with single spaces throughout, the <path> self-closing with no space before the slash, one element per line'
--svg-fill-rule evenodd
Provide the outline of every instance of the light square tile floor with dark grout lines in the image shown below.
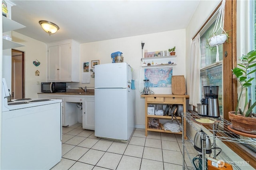
<path fill-rule="evenodd" d="M 81 123 L 62 128 L 62 159 L 52 170 L 181 170 L 182 135 L 136 128 L 130 141 L 97 138 Z M 186 163 L 191 166 L 185 154 Z"/>

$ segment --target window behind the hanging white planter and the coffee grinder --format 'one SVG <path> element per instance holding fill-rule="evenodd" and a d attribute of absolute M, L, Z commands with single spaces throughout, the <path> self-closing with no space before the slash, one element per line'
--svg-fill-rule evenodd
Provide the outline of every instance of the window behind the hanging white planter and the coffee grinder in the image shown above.
<path fill-rule="evenodd" d="M 218 11 L 217 11 L 218 12 Z M 216 63 L 216 47 L 210 47 L 207 40 L 212 35 L 217 14 L 209 20 L 200 32 L 200 96 L 204 98 L 204 86 L 219 86 L 218 101 L 222 116 L 222 53 L 223 45 L 218 45 L 219 62 Z M 222 30 L 219 30 L 221 33 Z"/>

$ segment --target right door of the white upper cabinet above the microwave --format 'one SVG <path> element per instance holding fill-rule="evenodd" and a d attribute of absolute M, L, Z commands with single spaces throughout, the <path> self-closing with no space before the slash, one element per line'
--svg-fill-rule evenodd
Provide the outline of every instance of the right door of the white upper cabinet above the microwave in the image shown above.
<path fill-rule="evenodd" d="M 71 81 L 71 62 L 70 44 L 60 45 L 60 82 Z"/>

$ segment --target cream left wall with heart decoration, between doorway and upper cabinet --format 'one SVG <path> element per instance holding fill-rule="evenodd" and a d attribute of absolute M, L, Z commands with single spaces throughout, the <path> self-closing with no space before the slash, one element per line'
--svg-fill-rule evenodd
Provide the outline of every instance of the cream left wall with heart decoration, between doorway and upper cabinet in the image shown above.
<path fill-rule="evenodd" d="M 46 44 L 17 32 L 12 32 L 12 41 L 25 45 L 15 48 L 25 52 L 25 98 L 38 98 L 37 93 L 41 92 L 41 82 L 46 81 Z M 33 61 L 40 61 L 38 67 Z M 36 70 L 40 71 L 40 76 L 36 76 Z M 40 85 L 37 85 L 37 81 Z"/>

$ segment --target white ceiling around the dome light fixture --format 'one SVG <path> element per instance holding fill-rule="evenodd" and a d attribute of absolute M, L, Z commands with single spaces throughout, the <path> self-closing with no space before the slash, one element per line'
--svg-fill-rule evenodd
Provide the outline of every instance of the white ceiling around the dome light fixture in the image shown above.
<path fill-rule="evenodd" d="M 44 43 L 79 43 L 186 28 L 200 0 L 11 0 L 12 20 L 26 26 L 16 32 Z M 60 27 L 49 36 L 39 25 Z"/>

